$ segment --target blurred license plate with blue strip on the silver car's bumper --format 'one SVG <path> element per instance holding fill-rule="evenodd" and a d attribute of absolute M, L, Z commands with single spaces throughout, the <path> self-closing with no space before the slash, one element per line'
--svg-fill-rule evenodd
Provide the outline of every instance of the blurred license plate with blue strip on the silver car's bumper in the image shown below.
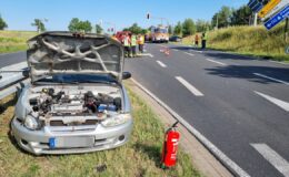
<path fill-rule="evenodd" d="M 76 148 L 76 147 L 92 147 L 94 145 L 93 136 L 77 136 L 77 137 L 53 137 L 49 139 L 50 148 Z"/>

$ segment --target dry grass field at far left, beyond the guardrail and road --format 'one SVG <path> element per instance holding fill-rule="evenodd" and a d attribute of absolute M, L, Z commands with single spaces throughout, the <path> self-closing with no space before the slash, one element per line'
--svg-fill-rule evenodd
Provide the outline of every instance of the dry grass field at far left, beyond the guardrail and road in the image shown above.
<path fill-rule="evenodd" d="M 0 53 L 27 50 L 27 40 L 36 34 L 31 31 L 0 31 Z"/>

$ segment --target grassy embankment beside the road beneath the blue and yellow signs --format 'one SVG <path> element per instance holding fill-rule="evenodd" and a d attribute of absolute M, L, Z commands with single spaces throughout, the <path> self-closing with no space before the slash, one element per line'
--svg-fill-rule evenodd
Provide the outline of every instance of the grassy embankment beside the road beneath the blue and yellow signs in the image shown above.
<path fill-rule="evenodd" d="M 267 31 L 262 25 L 230 27 L 210 31 L 208 48 L 289 62 L 289 54 L 285 53 L 283 28 L 282 23 L 271 31 Z M 183 43 L 191 44 L 192 38 L 185 38 Z"/>

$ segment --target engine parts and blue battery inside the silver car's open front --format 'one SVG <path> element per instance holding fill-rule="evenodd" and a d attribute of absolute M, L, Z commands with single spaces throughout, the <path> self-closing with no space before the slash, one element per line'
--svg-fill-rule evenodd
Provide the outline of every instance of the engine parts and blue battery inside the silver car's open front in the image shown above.
<path fill-rule="evenodd" d="M 93 94 L 91 91 L 68 92 L 56 92 L 52 87 L 44 87 L 29 100 L 29 104 L 38 116 L 101 116 L 103 113 L 121 110 L 121 97 L 103 93 Z"/>

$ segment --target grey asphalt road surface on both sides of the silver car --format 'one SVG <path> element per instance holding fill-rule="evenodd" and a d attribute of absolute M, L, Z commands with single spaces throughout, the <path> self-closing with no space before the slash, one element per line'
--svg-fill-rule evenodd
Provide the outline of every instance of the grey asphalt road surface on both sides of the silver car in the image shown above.
<path fill-rule="evenodd" d="M 289 176 L 289 65 L 171 44 L 146 50 L 124 71 L 250 176 Z M 0 67 L 24 56 L 0 55 Z"/>

